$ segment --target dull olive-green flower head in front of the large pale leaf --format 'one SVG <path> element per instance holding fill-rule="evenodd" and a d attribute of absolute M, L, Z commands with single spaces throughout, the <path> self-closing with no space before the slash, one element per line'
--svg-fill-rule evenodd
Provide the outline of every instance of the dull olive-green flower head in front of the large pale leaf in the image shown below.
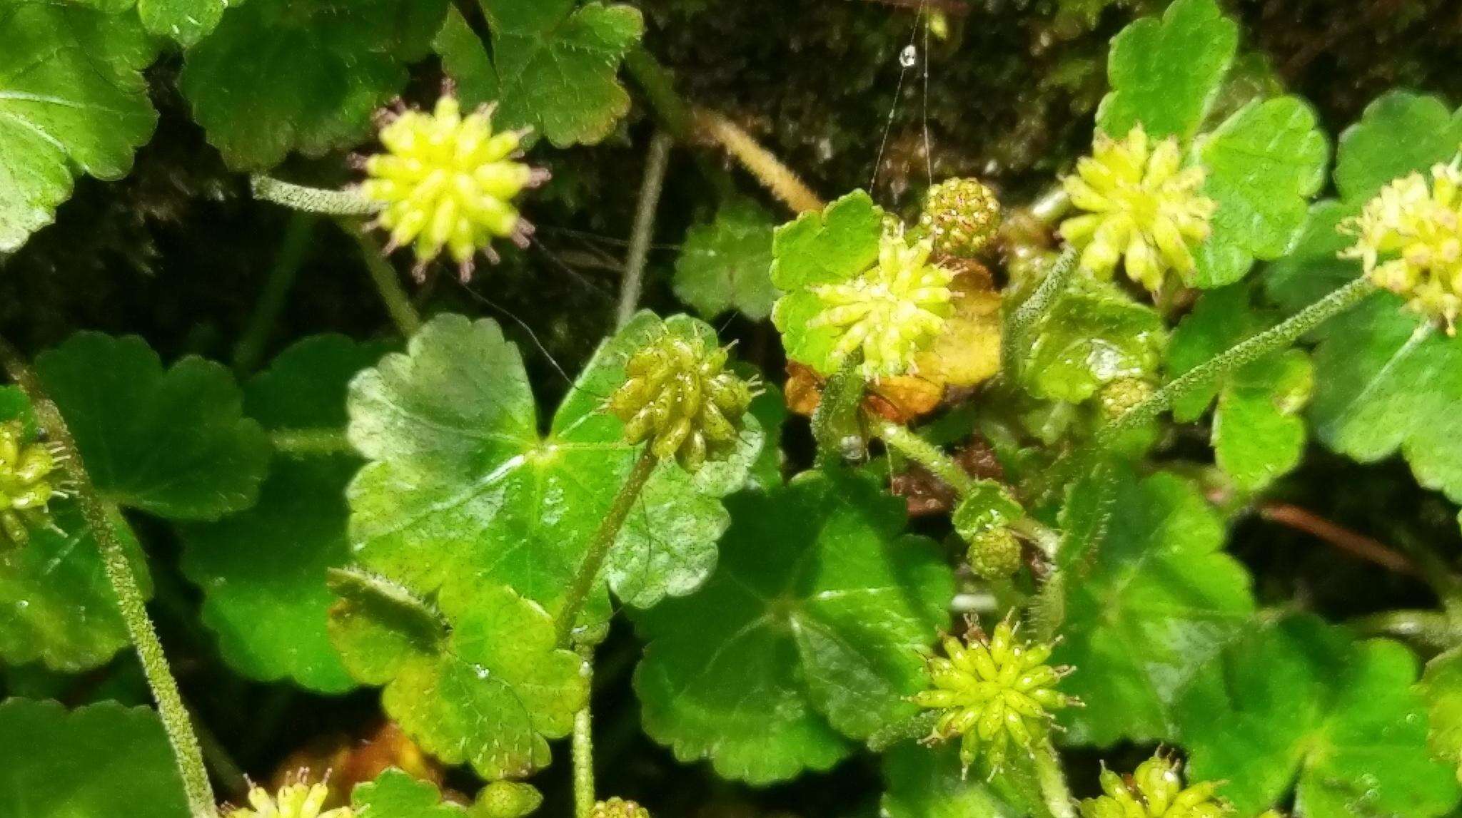
<path fill-rule="evenodd" d="M 671 327 L 635 352 L 624 365 L 629 380 L 608 402 L 624 438 L 649 441 L 656 457 L 674 457 L 687 472 L 728 457 L 756 384 L 728 371 L 727 358 L 727 348 Z"/>

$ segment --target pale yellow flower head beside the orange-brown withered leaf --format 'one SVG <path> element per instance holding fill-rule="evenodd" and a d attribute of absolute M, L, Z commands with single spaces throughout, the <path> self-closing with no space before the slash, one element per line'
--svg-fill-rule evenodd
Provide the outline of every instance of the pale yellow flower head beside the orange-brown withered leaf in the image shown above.
<path fill-rule="evenodd" d="M 902 229 L 886 231 L 877 263 L 858 278 L 811 288 L 822 311 L 808 327 L 835 327 L 832 359 L 863 351 L 860 371 L 868 380 L 914 371 L 914 358 L 942 332 L 953 307 L 955 273 L 931 264 L 930 240 L 909 244 Z"/>

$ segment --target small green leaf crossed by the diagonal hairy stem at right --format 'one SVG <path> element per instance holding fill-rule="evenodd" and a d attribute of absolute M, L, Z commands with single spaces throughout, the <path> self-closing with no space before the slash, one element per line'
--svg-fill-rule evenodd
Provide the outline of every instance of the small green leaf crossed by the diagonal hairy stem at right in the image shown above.
<path fill-rule="evenodd" d="M 1173 333 L 1168 370 L 1173 377 L 1181 375 L 1272 323 L 1250 304 L 1250 288 L 1205 292 Z M 1308 355 L 1288 349 L 1240 368 L 1222 384 L 1190 391 L 1174 405 L 1173 415 L 1196 421 L 1216 396 L 1212 440 L 1218 466 L 1238 488 L 1256 491 L 1300 463 L 1306 428 L 1298 413 L 1313 386 Z"/>

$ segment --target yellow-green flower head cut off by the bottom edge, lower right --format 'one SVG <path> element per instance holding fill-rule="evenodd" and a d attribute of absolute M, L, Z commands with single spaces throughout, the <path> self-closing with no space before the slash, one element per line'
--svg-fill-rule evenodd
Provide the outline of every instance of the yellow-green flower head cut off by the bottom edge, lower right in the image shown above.
<path fill-rule="evenodd" d="M 1082 818 L 1222 818 L 1234 808 L 1216 798 L 1218 784 L 1183 786 L 1181 765 L 1154 755 L 1137 765 L 1130 779 L 1102 770 L 1105 795 L 1082 802 Z"/>

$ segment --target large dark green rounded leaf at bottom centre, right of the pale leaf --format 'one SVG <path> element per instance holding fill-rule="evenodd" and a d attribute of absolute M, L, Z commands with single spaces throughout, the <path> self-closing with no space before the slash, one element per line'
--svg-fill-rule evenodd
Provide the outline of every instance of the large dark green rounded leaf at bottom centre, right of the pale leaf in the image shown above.
<path fill-rule="evenodd" d="M 635 618 L 645 730 L 751 783 L 826 770 L 848 738 L 912 714 L 950 571 L 861 478 L 806 473 L 728 504 L 706 586 Z"/>

